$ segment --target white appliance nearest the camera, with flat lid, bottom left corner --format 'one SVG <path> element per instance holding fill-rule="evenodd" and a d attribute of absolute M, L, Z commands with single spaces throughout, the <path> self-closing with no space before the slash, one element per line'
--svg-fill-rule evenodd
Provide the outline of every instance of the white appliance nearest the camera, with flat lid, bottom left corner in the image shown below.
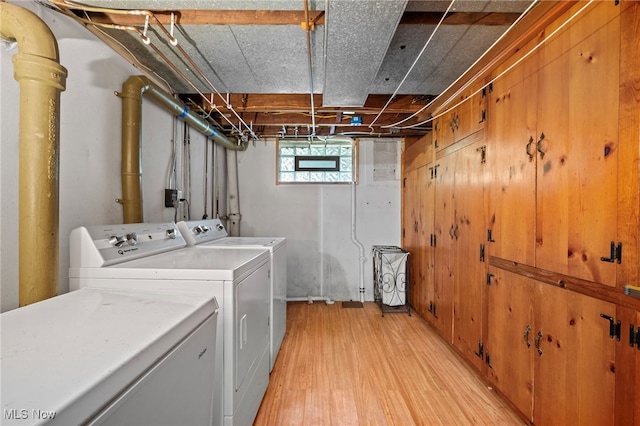
<path fill-rule="evenodd" d="M 215 298 L 82 289 L 0 315 L 3 425 L 210 424 Z"/>

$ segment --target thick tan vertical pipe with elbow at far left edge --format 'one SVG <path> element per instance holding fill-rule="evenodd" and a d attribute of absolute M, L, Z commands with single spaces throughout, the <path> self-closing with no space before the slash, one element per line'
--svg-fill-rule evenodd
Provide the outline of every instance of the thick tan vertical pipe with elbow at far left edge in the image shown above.
<path fill-rule="evenodd" d="M 19 304 L 58 294 L 60 92 L 58 43 L 33 12 L 0 2 L 0 37 L 15 40 L 20 84 Z"/>

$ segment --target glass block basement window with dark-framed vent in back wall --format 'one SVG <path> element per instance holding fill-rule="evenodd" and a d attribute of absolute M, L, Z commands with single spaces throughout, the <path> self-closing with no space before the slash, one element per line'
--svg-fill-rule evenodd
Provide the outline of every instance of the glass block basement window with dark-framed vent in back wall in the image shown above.
<path fill-rule="evenodd" d="M 357 151 L 350 139 L 278 140 L 277 183 L 355 183 Z"/>

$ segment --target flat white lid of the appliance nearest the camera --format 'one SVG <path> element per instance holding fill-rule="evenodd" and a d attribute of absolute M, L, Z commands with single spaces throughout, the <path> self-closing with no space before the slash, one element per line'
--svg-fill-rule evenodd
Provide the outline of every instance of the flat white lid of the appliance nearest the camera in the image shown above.
<path fill-rule="evenodd" d="M 53 413 L 52 424 L 82 423 L 217 308 L 209 297 L 84 288 L 3 313 L 3 424 Z"/>

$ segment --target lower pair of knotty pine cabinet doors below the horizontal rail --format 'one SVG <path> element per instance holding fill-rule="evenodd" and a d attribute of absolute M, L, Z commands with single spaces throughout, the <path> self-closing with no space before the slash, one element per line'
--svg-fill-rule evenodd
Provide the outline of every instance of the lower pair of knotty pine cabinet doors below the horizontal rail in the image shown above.
<path fill-rule="evenodd" d="M 491 268 L 489 378 L 535 424 L 614 422 L 612 303 Z"/>

